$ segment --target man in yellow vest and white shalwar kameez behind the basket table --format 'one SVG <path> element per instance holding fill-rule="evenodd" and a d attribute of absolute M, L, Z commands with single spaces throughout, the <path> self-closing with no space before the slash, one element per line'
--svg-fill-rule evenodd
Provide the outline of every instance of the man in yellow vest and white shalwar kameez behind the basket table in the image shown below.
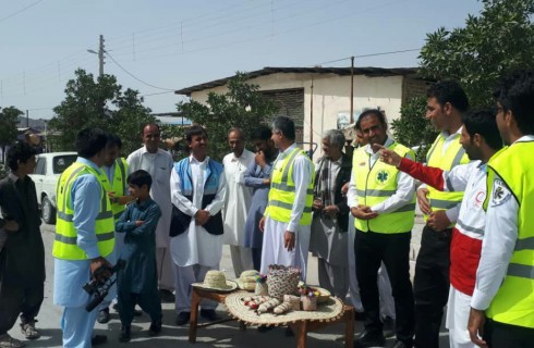
<path fill-rule="evenodd" d="M 314 164 L 307 154 L 296 147 L 295 128 L 291 119 L 275 119 L 271 129 L 271 139 L 280 149 L 280 154 L 271 174 L 269 203 L 264 219 L 259 222 L 260 229 L 264 231 L 260 273 L 267 274 L 270 264 L 291 265 L 301 270 L 301 277 L 305 281 L 312 224 Z"/>

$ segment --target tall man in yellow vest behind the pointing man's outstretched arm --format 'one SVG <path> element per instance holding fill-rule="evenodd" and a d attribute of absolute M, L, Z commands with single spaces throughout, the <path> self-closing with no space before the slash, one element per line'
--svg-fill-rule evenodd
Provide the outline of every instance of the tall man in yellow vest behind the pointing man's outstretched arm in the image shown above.
<path fill-rule="evenodd" d="M 440 133 L 426 154 L 428 166 L 450 171 L 469 163 L 460 144 L 462 114 L 469 101 L 452 80 L 438 82 L 426 92 L 426 119 Z M 461 192 L 441 192 L 426 185 L 417 189 L 417 202 L 426 225 L 415 262 L 415 347 L 438 348 L 444 308 L 449 298 L 450 240 L 460 212 Z"/>

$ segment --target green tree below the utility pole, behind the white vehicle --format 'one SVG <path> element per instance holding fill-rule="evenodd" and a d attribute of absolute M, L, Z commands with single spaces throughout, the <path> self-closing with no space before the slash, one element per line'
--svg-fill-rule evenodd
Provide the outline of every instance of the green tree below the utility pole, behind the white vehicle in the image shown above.
<path fill-rule="evenodd" d="M 143 125 L 155 122 L 150 109 L 143 105 L 138 91 L 126 89 L 113 75 L 99 76 L 76 70 L 75 78 L 65 87 L 65 99 L 53 108 L 50 130 L 58 130 L 57 150 L 73 150 L 77 133 L 85 127 L 99 127 L 112 132 L 123 141 L 128 154 L 141 146 Z"/>

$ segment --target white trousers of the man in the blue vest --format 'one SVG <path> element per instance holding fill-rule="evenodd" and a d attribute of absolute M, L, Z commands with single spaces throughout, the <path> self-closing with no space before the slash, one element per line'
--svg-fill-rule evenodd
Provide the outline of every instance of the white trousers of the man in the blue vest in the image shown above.
<path fill-rule="evenodd" d="M 174 268 L 174 287 L 177 289 L 175 293 L 175 308 L 177 313 L 181 312 L 191 312 L 191 284 L 193 283 L 202 283 L 204 282 L 204 277 L 209 270 L 218 270 L 219 265 L 207 266 L 201 264 L 193 264 L 187 266 L 179 266 Z M 216 309 L 218 302 L 211 300 L 202 300 L 201 308 L 202 309 Z"/>

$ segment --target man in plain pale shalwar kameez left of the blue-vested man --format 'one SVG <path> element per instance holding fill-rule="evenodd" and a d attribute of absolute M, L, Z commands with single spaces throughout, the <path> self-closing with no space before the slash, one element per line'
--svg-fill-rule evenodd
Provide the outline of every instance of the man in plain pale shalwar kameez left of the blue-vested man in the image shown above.
<path fill-rule="evenodd" d="M 161 210 L 156 227 L 156 261 L 158 268 L 158 288 L 162 300 L 172 302 L 174 298 L 174 271 L 169 254 L 169 226 L 171 217 L 171 196 L 169 177 L 171 175 L 172 157 L 159 148 L 160 130 L 157 124 L 147 124 L 143 128 L 144 146 L 130 153 L 126 159 L 131 173 L 144 170 L 153 177 L 150 197 Z"/>

